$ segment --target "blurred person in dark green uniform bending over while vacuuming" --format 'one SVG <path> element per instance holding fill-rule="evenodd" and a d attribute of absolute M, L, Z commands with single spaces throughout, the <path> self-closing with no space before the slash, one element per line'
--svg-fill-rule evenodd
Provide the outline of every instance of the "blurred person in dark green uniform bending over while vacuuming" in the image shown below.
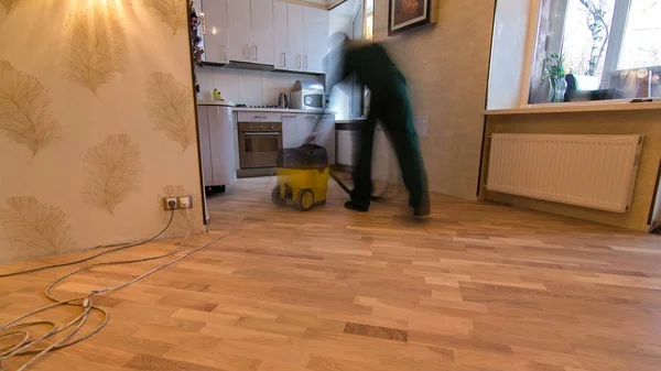
<path fill-rule="evenodd" d="M 426 173 L 404 76 L 378 43 L 353 42 L 343 33 L 333 35 L 330 40 L 337 45 L 335 54 L 339 55 L 340 67 L 336 81 L 328 86 L 328 91 L 337 83 L 354 75 L 357 83 L 366 86 L 371 94 L 370 109 L 361 127 L 357 148 L 354 189 L 345 207 L 358 211 L 369 209 L 373 187 L 372 145 L 379 120 L 398 159 L 414 216 L 429 215 Z"/>

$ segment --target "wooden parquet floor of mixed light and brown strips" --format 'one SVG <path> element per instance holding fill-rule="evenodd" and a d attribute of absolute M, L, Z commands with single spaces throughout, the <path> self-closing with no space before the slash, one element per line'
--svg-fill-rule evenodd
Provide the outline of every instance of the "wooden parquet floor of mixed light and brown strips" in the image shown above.
<path fill-rule="evenodd" d="M 109 325 L 33 370 L 661 369 L 659 236 L 436 195 L 426 222 L 400 217 L 402 201 L 354 214 L 335 186 L 327 205 L 301 212 L 271 205 L 266 181 L 209 198 L 215 231 L 188 245 L 229 236 L 102 297 Z M 80 295 L 155 265 L 95 269 L 56 293 Z M 0 320 L 46 304 L 43 287 L 71 271 L 0 279 Z"/>

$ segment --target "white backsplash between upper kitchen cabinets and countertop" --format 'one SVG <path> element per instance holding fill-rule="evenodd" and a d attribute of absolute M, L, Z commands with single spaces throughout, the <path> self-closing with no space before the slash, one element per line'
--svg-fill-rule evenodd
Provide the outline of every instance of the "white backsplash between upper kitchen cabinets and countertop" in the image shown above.
<path fill-rule="evenodd" d="M 278 105 L 278 95 L 291 96 L 296 80 L 324 83 L 323 76 L 204 66 L 195 69 L 202 99 L 212 100 L 218 89 L 225 100 L 248 106 Z"/>

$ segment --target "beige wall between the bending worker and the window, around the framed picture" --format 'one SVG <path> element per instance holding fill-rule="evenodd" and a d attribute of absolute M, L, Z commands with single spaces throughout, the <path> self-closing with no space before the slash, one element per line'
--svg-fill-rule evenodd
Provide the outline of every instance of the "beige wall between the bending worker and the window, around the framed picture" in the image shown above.
<path fill-rule="evenodd" d="M 375 0 L 375 40 L 405 75 L 430 188 L 476 199 L 495 0 L 441 0 L 438 23 L 388 37 L 388 0 Z"/>

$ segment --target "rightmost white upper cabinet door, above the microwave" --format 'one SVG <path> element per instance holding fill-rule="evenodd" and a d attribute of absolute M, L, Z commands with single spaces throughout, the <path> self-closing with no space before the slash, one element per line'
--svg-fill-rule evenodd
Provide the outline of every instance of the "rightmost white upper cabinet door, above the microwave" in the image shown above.
<path fill-rule="evenodd" d="M 303 70 L 325 73 L 324 58 L 328 53 L 329 22 L 330 15 L 326 10 L 303 8 L 303 29 L 305 30 Z"/>

